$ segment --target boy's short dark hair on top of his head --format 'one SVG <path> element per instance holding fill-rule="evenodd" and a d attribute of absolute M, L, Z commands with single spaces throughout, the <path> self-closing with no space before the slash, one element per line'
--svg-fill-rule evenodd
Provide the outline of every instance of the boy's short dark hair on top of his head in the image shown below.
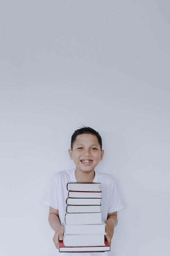
<path fill-rule="evenodd" d="M 99 145 L 102 150 L 102 138 L 99 135 L 99 132 L 97 132 L 96 130 L 94 130 L 93 128 L 90 128 L 88 126 L 83 126 L 82 128 L 75 130 L 75 132 L 73 133 L 73 135 L 71 137 L 71 150 L 73 149 L 73 144 L 75 143 L 77 136 L 80 134 L 85 134 L 85 133 L 95 135 L 99 141 Z"/>

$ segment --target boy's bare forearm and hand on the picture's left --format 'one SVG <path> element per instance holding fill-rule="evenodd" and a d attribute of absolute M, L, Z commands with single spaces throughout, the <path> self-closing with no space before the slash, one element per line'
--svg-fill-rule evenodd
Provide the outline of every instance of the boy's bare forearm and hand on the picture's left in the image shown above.
<path fill-rule="evenodd" d="M 49 224 L 51 228 L 55 231 L 53 236 L 53 242 L 55 247 L 59 249 L 59 240 L 63 240 L 64 227 L 60 223 L 58 210 L 50 207 L 49 210 Z"/>

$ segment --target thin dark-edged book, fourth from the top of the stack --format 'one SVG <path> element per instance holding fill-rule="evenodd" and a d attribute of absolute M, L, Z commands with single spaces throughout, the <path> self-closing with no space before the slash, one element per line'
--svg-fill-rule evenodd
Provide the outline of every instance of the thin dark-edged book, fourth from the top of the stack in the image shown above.
<path fill-rule="evenodd" d="M 67 205 L 66 213 L 94 213 L 101 212 L 100 205 Z"/>

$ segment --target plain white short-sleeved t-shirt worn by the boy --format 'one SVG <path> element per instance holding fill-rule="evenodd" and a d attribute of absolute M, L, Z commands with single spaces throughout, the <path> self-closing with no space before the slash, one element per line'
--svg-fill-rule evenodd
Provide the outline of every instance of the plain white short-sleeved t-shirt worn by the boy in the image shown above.
<path fill-rule="evenodd" d="M 68 191 L 66 185 L 68 182 L 77 182 L 75 178 L 75 169 L 57 172 L 51 184 L 49 193 L 44 201 L 50 207 L 59 210 L 59 218 L 61 225 L 64 226 L 64 218 L 66 213 L 66 198 Z M 119 211 L 124 206 L 121 202 L 117 186 L 114 178 L 106 173 L 99 173 L 95 171 L 95 178 L 93 182 L 101 183 L 102 199 L 101 199 L 101 212 L 102 220 L 106 221 L 108 213 Z M 107 256 L 108 252 L 93 252 L 93 253 L 60 253 L 57 249 L 55 256 Z"/>

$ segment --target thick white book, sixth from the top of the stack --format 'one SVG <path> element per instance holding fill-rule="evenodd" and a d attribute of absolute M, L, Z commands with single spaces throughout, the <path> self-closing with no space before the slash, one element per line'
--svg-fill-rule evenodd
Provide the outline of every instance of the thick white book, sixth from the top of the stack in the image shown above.
<path fill-rule="evenodd" d="M 106 224 L 102 220 L 102 224 L 91 224 L 91 225 L 65 225 L 64 233 L 66 235 L 73 234 L 105 234 Z"/>

